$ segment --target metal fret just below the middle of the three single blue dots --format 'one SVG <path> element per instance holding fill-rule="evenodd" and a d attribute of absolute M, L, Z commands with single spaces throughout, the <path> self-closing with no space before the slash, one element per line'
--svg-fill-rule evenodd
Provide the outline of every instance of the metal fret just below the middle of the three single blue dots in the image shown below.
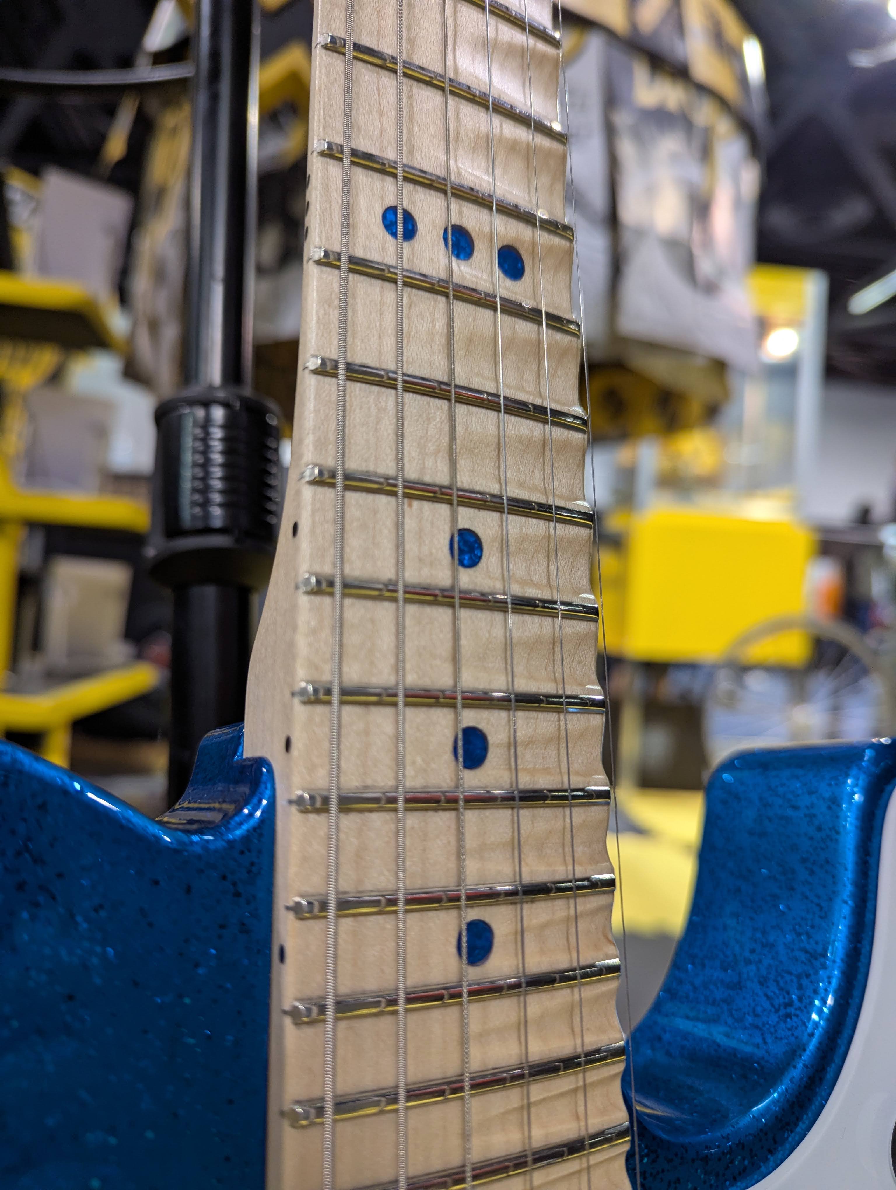
<path fill-rule="evenodd" d="M 457 809 L 457 789 L 408 789 L 405 807 L 409 810 Z M 465 789 L 466 809 L 489 807 L 544 807 L 544 806 L 606 806 L 609 803 L 609 785 L 587 785 L 584 789 Z M 300 789 L 289 800 L 296 809 L 320 813 L 330 808 L 330 794 L 325 789 Z M 396 794 L 393 789 L 358 789 L 339 794 L 339 812 L 344 810 L 394 810 Z"/>

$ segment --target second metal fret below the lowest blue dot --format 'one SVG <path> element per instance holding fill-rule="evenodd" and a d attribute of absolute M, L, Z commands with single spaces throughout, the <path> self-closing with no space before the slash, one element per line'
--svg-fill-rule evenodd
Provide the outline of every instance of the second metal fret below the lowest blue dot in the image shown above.
<path fill-rule="evenodd" d="M 499 1091 L 520 1083 L 543 1082 L 546 1078 L 558 1078 L 563 1075 L 577 1073 L 582 1070 L 594 1070 L 614 1061 L 625 1061 L 624 1041 L 597 1046 L 595 1050 L 581 1051 L 566 1058 L 547 1058 L 544 1061 L 532 1061 L 528 1067 L 502 1066 L 496 1070 L 483 1070 L 470 1076 L 470 1092 L 481 1095 L 484 1091 Z M 407 1089 L 408 1107 L 421 1107 L 426 1103 L 443 1103 L 445 1100 L 459 1098 L 464 1094 L 463 1078 L 446 1079 L 440 1083 L 416 1083 Z M 336 1101 L 336 1119 L 352 1120 L 358 1116 L 378 1115 L 381 1111 L 394 1111 L 397 1107 L 397 1090 L 391 1086 L 364 1095 L 345 1096 Z M 320 1123 L 324 1119 L 322 1100 L 297 1100 L 283 1111 L 283 1117 L 293 1128 L 306 1128 Z"/>

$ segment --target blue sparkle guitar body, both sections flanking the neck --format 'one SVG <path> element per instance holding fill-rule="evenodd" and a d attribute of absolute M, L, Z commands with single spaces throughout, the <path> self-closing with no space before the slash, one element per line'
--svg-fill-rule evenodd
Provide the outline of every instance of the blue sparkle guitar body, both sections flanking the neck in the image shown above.
<path fill-rule="evenodd" d="M 14 745 L 0 769 L 0 1190 L 263 1190 L 268 763 L 213 733 L 157 822 Z M 894 782 L 890 741 L 713 775 L 691 919 L 634 1033 L 645 1190 L 800 1185 L 781 1171 L 856 1059 Z M 861 1184 L 889 1184 L 873 1163 Z"/>

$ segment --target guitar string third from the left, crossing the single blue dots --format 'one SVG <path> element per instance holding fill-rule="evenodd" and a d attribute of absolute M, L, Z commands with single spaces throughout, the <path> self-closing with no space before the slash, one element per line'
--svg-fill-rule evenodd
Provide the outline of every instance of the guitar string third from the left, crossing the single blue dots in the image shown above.
<path fill-rule="evenodd" d="M 470 977 L 468 971 L 466 938 L 466 821 L 464 797 L 464 714 L 460 651 L 460 546 L 457 539 L 459 518 L 457 502 L 457 393 L 455 359 L 455 255 L 452 252 L 453 213 L 451 201 L 451 104 L 449 73 L 449 31 L 447 0 L 441 0 L 441 51 L 443 77 L 445 80 L 445 205 L 447 213 L 447 321 L 449 321 L 449 383 L 451 401 L 449 405 L 449 438 L 451 444 L 451 540 L 453 541 L 453 582 L 455 582 L 455 677 L 457 681 L 456 734 L 457 740 L 457 834 L 458 866 L 460 883 L 460 1004 L 462 1004 L 462 1046 L 464 1081 L 464 1180 L 472 1185 L 472 1098 L 470 1095 Z"/>

